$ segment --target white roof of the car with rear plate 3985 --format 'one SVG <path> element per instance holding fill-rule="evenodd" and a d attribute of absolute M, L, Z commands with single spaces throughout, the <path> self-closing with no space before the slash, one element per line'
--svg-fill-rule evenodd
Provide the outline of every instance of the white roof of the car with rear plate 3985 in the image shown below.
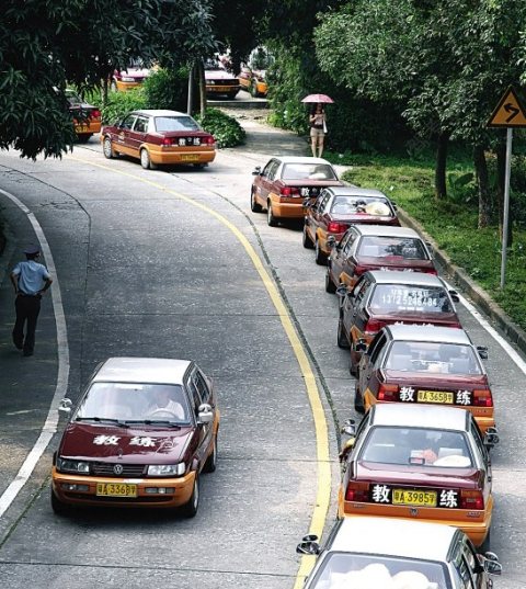
<path fill-rule="evenodd" d="M 459 407 L 378 403 L 373 406 L 373 426 L 418 427 L 432 430 L 466 431 L 469 412 Z"/>

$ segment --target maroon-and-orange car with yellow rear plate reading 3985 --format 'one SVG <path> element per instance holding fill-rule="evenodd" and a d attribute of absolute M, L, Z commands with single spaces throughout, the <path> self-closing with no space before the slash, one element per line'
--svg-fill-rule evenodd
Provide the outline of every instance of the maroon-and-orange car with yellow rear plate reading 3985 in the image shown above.
<path fill-rule="evenodd" d="M 493 510 L 491 462 L 465 409 L 376 405 L 341 458 L 339 516 L 382 516 L 446 523 L 489 550 Z"/>

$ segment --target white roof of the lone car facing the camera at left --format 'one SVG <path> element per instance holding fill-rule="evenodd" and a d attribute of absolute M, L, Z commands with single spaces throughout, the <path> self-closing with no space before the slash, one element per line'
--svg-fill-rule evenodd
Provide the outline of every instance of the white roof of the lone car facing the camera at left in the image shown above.
<path fill-rule="evenodd" d="M 182 384 L 191 364 L 171 358 L 108 358 L 93 382 Z"/>

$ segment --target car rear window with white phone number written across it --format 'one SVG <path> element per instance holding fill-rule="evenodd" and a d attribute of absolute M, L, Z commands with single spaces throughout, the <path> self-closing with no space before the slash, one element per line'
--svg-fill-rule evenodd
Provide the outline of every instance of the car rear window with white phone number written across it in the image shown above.
<path fill-rule="evenodd" d="M 369 310 L 374 315 L 454 313 L 445 288 L 404 284 L 377 284 L 370 297 Z"/>

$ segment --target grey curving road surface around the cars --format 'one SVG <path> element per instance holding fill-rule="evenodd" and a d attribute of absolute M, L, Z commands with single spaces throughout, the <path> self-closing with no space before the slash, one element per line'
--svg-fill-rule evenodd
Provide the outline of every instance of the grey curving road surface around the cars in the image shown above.
<path fill-rule="evenodd" d="M 95 364 L 110 355 L 193 358 L 213 376 L 222 412 L 219 466 L 203 478 L 202 505 L 191 521 L 92 510 L 57 518 L 48 497 L 55 437 L 0 517 L 2 586 L 294 586 L 295 546 L 312 524 L 320 484 L 315 421 L 290 338 L 231 227 L 281 290 L 317 375 L 332 471 L 325 529 L 333 521 L 336 431 L 356 417 L 347 353 L 335 343 L 338 302 L 324 293 L 323 269 L 301 247 L 299 229 L 270 228 L 264 215 L 249 209 L 252 167 L 307 144 L 247 126 L 245 148 L 224 150 L 198 171 L 145 171 L 132 160 L 107 161 L 95 138 L 61 161 L 0 156 L 0 188 L 35 215 L 53 253 L 67 325 L 68 395 L 76 399 Z M 16 243 L 2 260 L 12 267 L 20 247 L 35 237 L 27 215 L 1 193 L 0 205 Z M 0 285 L 0 494 L 57 394 L 52 301 L 44 302 L 35 356 L 23 359 L 10 342 L 8 282 Z M 492 550 L 505 569 L 495 586 L 517 589 L 526 586 L 524 372 L 466 309 L 460 315 L 474 342 L 489 347 L 501 432 L 493 452 Z"/>

